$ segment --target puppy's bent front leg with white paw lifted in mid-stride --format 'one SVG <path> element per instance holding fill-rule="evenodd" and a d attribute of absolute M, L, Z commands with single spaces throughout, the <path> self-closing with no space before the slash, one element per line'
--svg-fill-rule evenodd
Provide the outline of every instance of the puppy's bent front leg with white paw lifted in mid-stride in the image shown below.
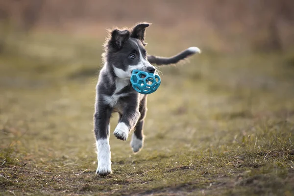
<path fill-rule="evenodd" d="M 125 141 L 128 138 L 130 130 L 134 128 L 140 118 L 139 104 L 133 103 L 132 105 L 127 104 L 124 107 L 123 115 L 119 120 L 117 127 L 114 130 L 114 135 Z"/>

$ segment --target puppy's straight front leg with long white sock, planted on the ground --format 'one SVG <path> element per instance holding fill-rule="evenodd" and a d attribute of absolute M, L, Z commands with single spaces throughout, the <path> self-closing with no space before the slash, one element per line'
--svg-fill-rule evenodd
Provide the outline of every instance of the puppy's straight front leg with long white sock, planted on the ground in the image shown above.
<path fill-rule="evenodd" d="M 96 173 L 108 175 L 111 173 L 111 152 L 109 145 L 110 116 L 112 109 L 96 103 L 94 114 L 94 131 L 96 136 L 98 168 Z"/>

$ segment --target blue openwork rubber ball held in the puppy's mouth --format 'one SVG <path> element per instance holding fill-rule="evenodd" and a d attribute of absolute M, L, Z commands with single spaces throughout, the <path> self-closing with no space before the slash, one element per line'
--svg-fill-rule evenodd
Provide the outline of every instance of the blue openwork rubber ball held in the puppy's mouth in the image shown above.
<path fill-rule="evenodd" d="M 161 82 L 159 75 L 140 70 L 133 70 L 130 80 L 133 88 L 144 95 L 155 92 Z"/>

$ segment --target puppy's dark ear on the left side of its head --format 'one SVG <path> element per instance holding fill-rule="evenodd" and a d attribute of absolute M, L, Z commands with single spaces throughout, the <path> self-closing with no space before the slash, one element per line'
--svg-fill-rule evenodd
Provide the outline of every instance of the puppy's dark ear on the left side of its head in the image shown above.
<path fill-rule="evenodd" d="M 111 32 L 111 38 L 108 44 L 116 50 L 120 50 L 124 43 L 130 38 L 130 32 L 128 30 L 114 29 Z"/>

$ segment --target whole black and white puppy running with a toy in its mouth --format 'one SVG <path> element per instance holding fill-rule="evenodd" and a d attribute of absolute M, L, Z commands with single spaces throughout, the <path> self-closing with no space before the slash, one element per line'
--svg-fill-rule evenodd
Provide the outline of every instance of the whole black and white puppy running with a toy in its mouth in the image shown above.
<path fill-rule="evenodd" d="M 134 129 L 131 147 L 136 153 L 143 147 L 143 124 L 147 111 L 147 95 L 136 92 L 130 84 L 132 70 L 155 73 L 151 64 L 167 65 L 196 53 L 200 50 L 191 47 L 170 57 L 147 55 L 145 29 L 148 23 L 139 23 L 131 29 L 114 29 L 104 44 L 102 54 L 104 66 L 100 70 L 96 86 L 96 103 L 94 114 L 94 131 L 98 153 L 96 173 L 111 173 L 111 153 L 109 145 L 110 117 L 113 112 L 119 113 L 119 123 L 114 135 L 125 141 L 129 132 Z"/>

